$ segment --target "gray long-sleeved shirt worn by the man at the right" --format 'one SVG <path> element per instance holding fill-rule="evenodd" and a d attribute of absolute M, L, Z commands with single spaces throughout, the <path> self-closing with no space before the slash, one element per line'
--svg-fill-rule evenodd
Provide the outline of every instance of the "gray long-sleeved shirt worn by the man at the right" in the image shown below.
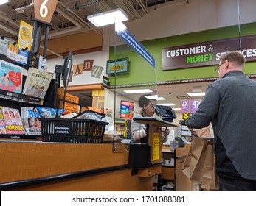
<path fill-rule="evenodd" d="M 256 180 L 256 82 L 242 71 L 212 82 L 187 126 L 199 129 L 210 122 L 241 177 Z"/>

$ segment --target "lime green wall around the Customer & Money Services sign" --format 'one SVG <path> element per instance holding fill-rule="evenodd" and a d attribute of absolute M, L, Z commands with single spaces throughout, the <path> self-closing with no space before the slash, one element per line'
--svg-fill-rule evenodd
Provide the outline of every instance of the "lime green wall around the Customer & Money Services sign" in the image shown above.
<path fill-rule="evenodd" d="M 241 24 L 241 37 L 249 37 L 256 34 L 256 22 L 250 24 Z M 166 38 L 158 38 L 153 40 L 145 40 L 142 42 L 143 46 L 152 54 L 152 56 L 156 60 L 156 76 L 153 72 L 149 72 L 152 70 L 151 65 L 149 65 L 145 60 L 143 60 L 136 51 L 129 52 L 119 52 L 120 49 L 117 49 L 116 56 L 114 55 L 114 46 L 110 48 L 110 59 L 114 59 L 114 57 L 123 58 L 129 57 L 129 66 L 128 73 L 126 74 L 118 74 L 117 81 L 114 84 L 114 75 L 108 75 L 110 85 L 129 85 L 129 84 L 143 84 L 146 82 L 186 82 L 195 79 L 218 79 L 218 74 L 215 72 L 215 66 L 218 65 L 217 53 L 229 51 L 224 50 L 216 50 L 215 46 L 213 47 L 212 53 L 204 53 L 211 54 L 212 56 L 203 56 L 203 57 L 194 57 L 200 56 L 204 54 L 193 54 L 191 57 L 184 56 L 183 67 L 180 69 L 167 69 L 164 70 L 162 68 L 162 51 L 165 48 L 181 48 L 181 46 L 186 45 L 195 45 L 195 46 L 203 46 L 205 42 L 217 43 L 221 40 L 234 40 L 238 38 L 238 26 L 227 26 L 219 29 L 210 29 L 201 32 L 193 32 L 184 35 L 176 35 L 170 36 Z M 239 41 L 236 41 L 237 48 Z M 242 42 L 242 47 L 244 43 Z M 121 47 L 121 46 L 120 46 Z M 129 46 L 128 46 L 129 47 Z M 209 46 L 205 46 L 205 50 L 207 51 L 210 48 Z M 250 47 L 249 49 L 256 48 L 255 46 Z M 199 48 L 200 51 L 203 51 L 204 47 Z M 234 50 L 234 49 L 233 49 Z M 235 49 L 238 50 L 238 49 Z M 196 51 L 196 50 L 195 50 Z M 207 51 L 208 52 L 208 51 Z M 246 51 L 247 52 L 247 51 Z M 244 53 L 246 54 L 246 53 Z M 255 55 L 255 50 L 248 50 L 248 54 Z M 248 56 L 248 54 L 246 54 Z M 218 54 L 219 55 L 219 54 Z M 188 55 L 189 56 L 189 55 Z M 196 59 L 198 58 L 198 59 Z M 200 58 L 200 59 L 199 59 Z M 248 57 L 247 57 L 248 58 Z M 209 61 L 212 60 L 211 63 Z M 214 60 L 214 61 L 213 61 Z M 200 61 L 200 64 L 198 64 Z M 244 67 L 245 74 L 255 74 L 256 61 L 248 62 Z M 202 65 L 205 63 L 205 65 Z M 195 65 L 194 67 L 189 66 L 189 64 Z M 197 65 L 196 65 L 197 64 Z M 149 69 L 151 68 L 151 70 Z M 142 78 L 143 77 L 143 78 Z M 155 80 L 154 80 L 155 79 Z M 212 80 L 213 81 L 213 80 Z"/>

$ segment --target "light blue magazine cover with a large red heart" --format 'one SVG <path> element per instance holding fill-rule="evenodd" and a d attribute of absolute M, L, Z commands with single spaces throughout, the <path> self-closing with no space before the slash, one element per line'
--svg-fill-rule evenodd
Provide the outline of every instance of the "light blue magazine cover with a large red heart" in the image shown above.
<path fill-rule="evenodd" d="M 0 89 L 21 93 L 23 68 L 0 60 Z"/>

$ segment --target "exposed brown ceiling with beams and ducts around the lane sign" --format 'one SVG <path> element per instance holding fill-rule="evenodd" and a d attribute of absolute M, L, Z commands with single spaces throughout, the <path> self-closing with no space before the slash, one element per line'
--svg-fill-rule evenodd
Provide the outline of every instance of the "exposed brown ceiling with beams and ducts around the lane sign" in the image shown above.
<path fill-rule="evenodd" d="M 59 0 L 52 17 L 49 37 L 56 38 L 97 29 L 87 20 L 87 16 L 96 13 L 122 8 L 128 15 L 129 21 L 134 21 L 147 15 L 150 9 L 179 1 L 186 0 Z M 34 18 L 34 7 L 30 6 L 32 2 L 32 0 L 10 0 L 0 5 L 1 35 L 17 40 L 20 21 L 32 25 Z M 18 13 L 17 8 L 23 8 L 24 12 Z"/>

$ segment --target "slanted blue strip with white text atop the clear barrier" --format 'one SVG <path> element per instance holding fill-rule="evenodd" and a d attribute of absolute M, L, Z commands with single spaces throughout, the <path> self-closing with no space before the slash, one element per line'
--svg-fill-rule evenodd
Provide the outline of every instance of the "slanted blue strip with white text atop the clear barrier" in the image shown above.
<path fill-rule="evenodd" d="M 118 31 L 117 35 L 120 36 L 123 40 L 125 40 L 126 43 L 128 43 L 129 46 L 131 46 L 132 49 L 134 49 L 140 56 L 142 56 L 150 65 L 153 66 L 153 68 L 156 68 L 155 59 L 153 56 L 148 52 L 145 47 L 139 43 L 133 35 L 127 30 L 123 29 L 122 31 Z"/>

